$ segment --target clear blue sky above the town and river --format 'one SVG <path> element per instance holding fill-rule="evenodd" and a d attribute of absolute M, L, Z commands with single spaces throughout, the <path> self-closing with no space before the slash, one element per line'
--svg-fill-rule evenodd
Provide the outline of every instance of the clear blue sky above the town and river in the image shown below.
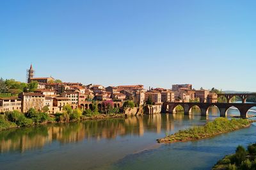
<path fill-rule="evenodd" d="M 256 91 L 256 1 L 0 1 L 0 77 Z"/>

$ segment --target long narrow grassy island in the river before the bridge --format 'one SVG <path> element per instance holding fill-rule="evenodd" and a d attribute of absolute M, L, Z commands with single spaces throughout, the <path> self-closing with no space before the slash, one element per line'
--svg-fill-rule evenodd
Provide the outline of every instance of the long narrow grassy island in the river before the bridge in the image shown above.
<path fill-rule="evenodd" d="M 246 119 L 228 120 L 227 118 L 216 118 L 214 121 L 208 122 L 204 126 L 192 127 L 186 130 L 180 130 L 172 135 L 166 135 L 166 137 L 162 139 L 157 139 L 157 142 L 175 143 L 182 141 L 193 141 L 249 126 L 250 121 Z"/>

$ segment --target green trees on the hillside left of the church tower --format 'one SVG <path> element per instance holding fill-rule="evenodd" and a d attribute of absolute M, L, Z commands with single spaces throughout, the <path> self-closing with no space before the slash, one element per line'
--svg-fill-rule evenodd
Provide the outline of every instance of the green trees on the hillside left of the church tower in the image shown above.
<path fill-rule="evenodd" d="M 35 91 L 38 87 L 38 82 L 30 83 L 15 81 L 14 79 L 0 79 L 0 97 L 17 96 L 22 92 Z"/>

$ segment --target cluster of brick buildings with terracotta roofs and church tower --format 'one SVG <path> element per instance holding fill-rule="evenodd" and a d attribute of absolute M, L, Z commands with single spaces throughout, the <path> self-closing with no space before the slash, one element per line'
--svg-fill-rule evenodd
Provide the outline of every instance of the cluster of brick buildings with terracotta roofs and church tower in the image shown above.
<path fill-rule="evenodd" d="M 132 100 L 137 106 L 144 105 L 148 98 L 152 104 L 161 108 L 164 102 L 217 102 L 218 95 L 208 90 L 192 89 L 191 84 L 175 84 L 172 89 L 150 88 L 143 85 L 108 86 L 79 82 L 54 82 L 52 77 L 34 77 L 32 65 L 28 70 L 28 82 L 37 81 L 38 89 L 33 93 L 20 93 L 18 97 L 0 98 L 0 112 L 18 110 L 27 112 L 30 108 L 42 110 L 49 108 L 49 113 L 62 112 L 65 105 L 73 109 L 90 109 L 92 101 L 113 100 L 115 107 L 122 107 L 126 100 Z"/>

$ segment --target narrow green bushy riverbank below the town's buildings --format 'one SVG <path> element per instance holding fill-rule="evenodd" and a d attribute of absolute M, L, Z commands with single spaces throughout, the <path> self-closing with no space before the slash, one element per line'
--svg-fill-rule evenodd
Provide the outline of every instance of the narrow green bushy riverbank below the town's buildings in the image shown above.
<path fill-rule="evenodd" d="M 29 118 L 23 118 L 23 116 L 20 116 L 26 121 L 29 121 L 29 123 L 15 123 L 12 121 L 9 121 L 8 118 L 5 118 L 5 115 L 0 115 L 0 131 L 3 130 L 9 130 L 11 128 L 20 128 L 20 127 L 32 127 L 32 126 L 38 126 L 38 125 L 46 125 L 48 123 L 69 123 L 69 122 L 83 122 L 83 121 L 89 121 L 89 120 L 106 120 L 106 119 L 118 119 L 118 118 L 125 118 L 124 114 L 96 114 L 96 115 L 81 115 L 79 120 L 68 120 L 68 121 L 56 121 L 57 116 L 51 115 L 51 119 L 43 121 L 43 122 L 33 122 L 33 120 L 30 121 Z M 18 124 L 18 125 L 17 125 Z"/>

